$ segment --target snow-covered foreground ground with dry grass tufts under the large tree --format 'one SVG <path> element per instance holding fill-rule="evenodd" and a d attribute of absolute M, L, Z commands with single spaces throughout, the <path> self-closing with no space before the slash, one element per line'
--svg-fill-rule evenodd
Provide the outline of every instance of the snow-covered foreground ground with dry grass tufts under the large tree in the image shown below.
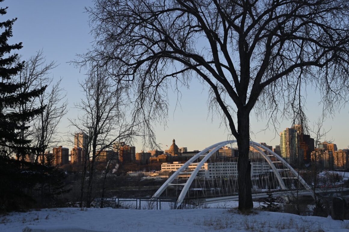
<path fill-rule="evenodd" d="M 220 203 L 222 204 L 222 203 Z M 234 202 L 225 204 L 230 207 Z M 213 207 L 214 205 L 210 205 Z M 222 205 L 221 205 L 222 206 Z M 257 205 L 256 205 L 257 206 Z M 26 228 L 26 229 L 25 229 Z M 349 231 L 349 220 L 253 210 L 80 209 L 31 210 L 0 216 L 0 231 Z"/>

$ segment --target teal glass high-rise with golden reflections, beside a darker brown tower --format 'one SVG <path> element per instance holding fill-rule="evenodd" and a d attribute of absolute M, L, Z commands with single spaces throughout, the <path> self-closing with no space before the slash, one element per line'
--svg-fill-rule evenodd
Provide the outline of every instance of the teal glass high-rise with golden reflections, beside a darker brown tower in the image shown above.
<path fill-rule="evenodd" d="M 286 128 L 280 133 L 280 151 L 283 159 L 289 164 L 297 164 L 297 131 Z"/>

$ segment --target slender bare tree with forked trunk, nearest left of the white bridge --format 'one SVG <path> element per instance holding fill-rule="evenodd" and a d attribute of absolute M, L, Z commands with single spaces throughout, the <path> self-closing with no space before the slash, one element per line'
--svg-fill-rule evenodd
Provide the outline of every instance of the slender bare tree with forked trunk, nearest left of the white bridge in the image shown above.
<path fill-rule="evenodd" d="M 122 100 L 121 89 L 107 78 L 105 72 L 98 67 L 91 67 L 88 77 L 81 83 L 85 98 L 76 107 L 83 115 L 77 120 L 70 120 L 71 124 L 88 137 L 84 157 L 84 171 L 81 181 L 81 204 L 85 189 L 87 171 L 86 205 L 90 207 L 92 188 L 95 175 L 95 164 L 101 152 L 112 148 L 115 142 L 132 139 L 133 125 L 128 125 L 123 112 L 125 102 Z"/>

